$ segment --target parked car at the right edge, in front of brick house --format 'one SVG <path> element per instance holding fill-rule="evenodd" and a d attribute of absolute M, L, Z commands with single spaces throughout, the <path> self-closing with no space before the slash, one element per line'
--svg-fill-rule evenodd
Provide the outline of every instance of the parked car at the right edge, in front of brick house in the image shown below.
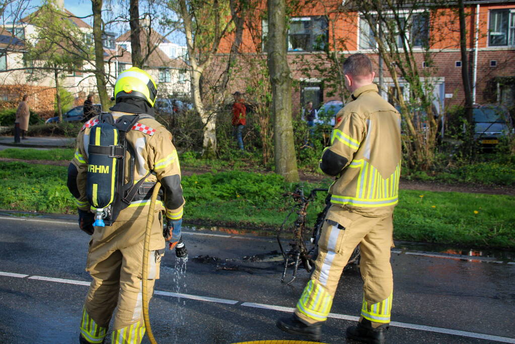
<path fill-rule="evenodd" d="M 499 105 L 480 105 L 472 110 L 474 139 L 483 146 L 494 146 L 513 130 L 508 110 Z"/>

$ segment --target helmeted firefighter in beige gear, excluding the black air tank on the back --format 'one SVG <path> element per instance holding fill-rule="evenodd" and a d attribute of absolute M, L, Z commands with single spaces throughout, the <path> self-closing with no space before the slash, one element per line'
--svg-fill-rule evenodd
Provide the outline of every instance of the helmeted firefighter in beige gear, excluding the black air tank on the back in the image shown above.
<path fill-rule="evenodd" d="M 159 279 L 164 254 L 163 221 L 167 222 L 169 230 L 174 230 L 174 226 L 180 230 L 184 198 L 179 160 L 171 134 L 153 118 L 156 95 L 156 83 L 139 68 L 122 72 L 116 80 L 116 104 L 110 109 L 113 118 L 140 115 L 138 123 L 125 136 L 133 148 L 134 164 L 129 163 L 127 151 L 124 178 L 130 180 L 132 175 L 136 182 L 147 177 L 112 226 L 93 227 L 93 213 L 85 195 L 88 136 L 98 116 L 85 123 L 77 136 L 75 157 L 68 167 L 68 188 L 76 198 L 81 229 L 92 233 L 86 270 L 93 278 L 82 311 L 81 343 L 104 342 L 115 308 L 112 343 L 140 343 L 145 334 L 142 258 L 150 198 L 157 181 L 161 182 L 162 189 L 153 214 L 149 261 L 145 262 L 149 265 L 149 298 L 155 280 Z M 176 237 L 180 239 L 180 233 Z M 167 239 L 171 240 L 171 235 Z"/>

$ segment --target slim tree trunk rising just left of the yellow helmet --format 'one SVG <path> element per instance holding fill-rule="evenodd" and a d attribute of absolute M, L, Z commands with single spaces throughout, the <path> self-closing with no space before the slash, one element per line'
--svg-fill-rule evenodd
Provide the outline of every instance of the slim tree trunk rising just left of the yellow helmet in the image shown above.
<path fill-rule="evenodd" d="M 93 40 L 95 42 L 95 79 L 102 110 L 107 111 L 111 98 L 107 94 L 104 69 L 104 46 L 102 46 L 102 0 L 91 0 L 93 11 Z"/>

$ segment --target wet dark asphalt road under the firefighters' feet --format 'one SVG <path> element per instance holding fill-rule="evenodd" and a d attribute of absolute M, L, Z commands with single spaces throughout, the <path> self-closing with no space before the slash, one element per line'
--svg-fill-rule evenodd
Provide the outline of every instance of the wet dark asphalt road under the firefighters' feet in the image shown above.
<path fill-rule="evenodd" d="M 278 249 L 273 238 L 187 227 L 184 232 L 190 261 L 177 267 L 167 252 L 150 303 L 159 343 L 304 339 L 274 325 L 295 306 L 308 274 L 299 271 L 291 286 L 280 283 L 281 264 L 268 254 Z M 0 217 L 0 343 L 77 342 L 84 284 L 90 281 L 84 271 L 88 240 L 73 221 Z M 515 264 L 394 252 L 389 343 L 515 343 Z M 260 261 L 244 259 L 256 254 Z M 199 255 L 220 260 L 193 259 Z M 361 278 L 351 268 L 321 342 L 354 343 L 344 334 L 361 298 Z"/>

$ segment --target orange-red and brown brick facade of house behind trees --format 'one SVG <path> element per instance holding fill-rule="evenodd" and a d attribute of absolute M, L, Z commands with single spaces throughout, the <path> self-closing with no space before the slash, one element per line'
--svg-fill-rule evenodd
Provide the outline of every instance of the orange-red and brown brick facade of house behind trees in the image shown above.
<path fill-rule="evenodd" d="M 334 6 L 331 4 L 334 2 Z M 375 63 L 376 74 L 377 74 L 377 55 L 372 50 L 359 50 L 358 49 L 358 12 L 345 11 L 345 9 L 339 7 L 341 1 L 320 2 L 314 6 L 302 7 L 298 13 L 293 16 L 316 16 L 316 15 L 327 15 L 329 18 L 329 37 L 336 37 L 335 44 L 329 41 L 330 49 L 334 51 L 334 46 L 340 51 L 340 54 L 349 55 L 357 52 L 368 54 L 373 62 Z M 491 18 L 491 11 L 496 10 L 513 10 L 510 12 L 509 25 L 515 27 L 515 1 L 499 1 L 499 3 L 491 3 L 486 1 L 466 2 L 466 13 L 467 13 L 467 44 L 468 44 L 468 59 L 469 59 L 469 76 L 471 83 L 473 83 L 474 72 L 476 72 L 476 104 L 491 104 L 497 102 L 499 98 L 499 81 L 505 80 L 509 77 L 515 78 L 515 38 L 505 46 L 489 46 L 489 23 Z M 476 22 L 476 11 L 477 5 L 479 4 L 479 20 Z M 340 9 L 338 11 L 330 11 L 331 6 Z M 241 51 L 244 52 L 246 57 L 243 58 L 244 62 L 239 64 L 237 71 L 233 74 L 232 81 L 230 83 L 229 91 L 243 91 L 245 92 L 246 85 L 245 80 L 252 75 L 249 72 L 249 64 L 245 62 L 249 56 L 255 54 L 261 55 L 261 42 L 258 40 L 256 43 L 256 30 L 255 28 L 261 28 L 261 18 L 263 18 L 263 8 L 256 9 L 256 13 L 251 15 L 250 18 L 258 18 L 258 21 L 248 23 L 246 30 L 244 31 L 244 43 Z M 433 19 L 434 17 L 434 19 Z M 431 24 L 430 36 L 434 39 L 430 47 L 430 53 L 432 56 L 432 66 L 430 77 L 434 80 L 438 80 L 439 85 L 441 84 L 440 97 L 443 101 L 442 108 L 451 105 L 460 105 L 464 103 L 465 94 L 462 87 L 461 78 L 461 67 L 456 66 L 456 61 L 461 60 L 459 50 L 459 25 L 458 18 L 455 9 L 447 8 L 440 9 L 432 12 L 431 20 L 434 21 Z M 511 22 L 513 21 L 513 23 Z M 475 56 L 475 28 L 478 27 L 478 40 L 477 40 L 477 64 L 474 68 L 474 56 Z M 508 24 L 507 24 L 508 25 Z M 511 30 L 508 28 L 508 30 Z M 258 33 L 259 34 L 259 33 Z M 509 33 L 515 36 L 515 28 Z M 222 53 L 228 53 L 230 44 L 232 43 L 231 37 L 228 37 L 225 41 L 222 41 L 220 50 Z M 293 90 L 293 109 L 294 113 L 298 113 L 301 107 L 302 94 L 301 84 L 306 79 L 308 81 L 320 81 L 323 89 L 322 102 L 340 99 L 338 92 L 331 94 L 334 90 L 323 82 L 323 75 L 320 75 L 320 66 L 327 67 L 329 63 L 323 62 L 323 52 L 297 52 L 291 51 L 288 53 L 288 61 L 290 69 L 295 83 Z M 420 53 L 415 53 L 415 60 L 419 70 L 424 68 L 422 50 Z M 227 60 L 226 54 L 220 54 L 218 59 L 213 63 L 212 70 L 210 72 L 209 79 L 212 80 L 213 76 L 219 76 L 223 73 L 226 63 L 220 63 L 223 60 Z M 263 55 L 261 55 L 263 56 Z M 491 61 L 495 61 L 495 66 L 491 66 Z M 317 67 L 318 66 L 318 67 Z M 323 68 L 322 68 L 323 69 Z M 307 70 L 307 71 L 306 71 Z M 388 78 L 387 68 L 384 68 L 384 78 Z M 504 78 L 504 79 L 503 79 Z M 513 80 L 513 79 L 511 79 Z M 512 81 L 510 81 L 512 82 Z M 515 86 L 513 87 L 515 93 Z M 252 98 L 252 95 L 247 95 L 247 98 Z M 345 101 L 345 99 L 344 99 Z"/>

